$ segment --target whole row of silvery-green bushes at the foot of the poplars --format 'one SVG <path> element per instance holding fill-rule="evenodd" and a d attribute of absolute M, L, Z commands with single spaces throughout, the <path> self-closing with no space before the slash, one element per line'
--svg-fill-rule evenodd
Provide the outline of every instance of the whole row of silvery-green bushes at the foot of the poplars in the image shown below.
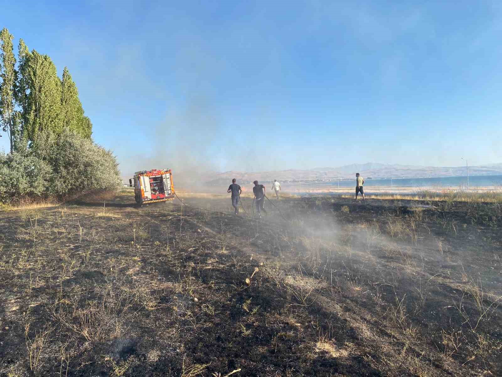
<path fill-rule="evenodd" d="M 65 198 L 116 190 L 121 184 L 115 156 L 91 139 L 64 130 L 41 131 L 24 152 L 0 153 L 0 202 L 15 198 Z"/>

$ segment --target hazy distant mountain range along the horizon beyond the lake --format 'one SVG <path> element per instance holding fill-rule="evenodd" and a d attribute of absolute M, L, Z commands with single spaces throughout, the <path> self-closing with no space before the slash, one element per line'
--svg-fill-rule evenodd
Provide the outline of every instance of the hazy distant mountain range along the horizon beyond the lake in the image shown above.
<path fill-rule="evenodd" d="M 425 178 L 443 176 L 464 176 L 465 166 L 419 166 L 419 165 L 388 165 L 378 162 L 364 164 L 350 164 L 339 167 L 316 167 L 308 170 L 288 169 L 262 172 L 225 171 L 213 173 L 208 184 L 222 184 L 232 178 L 239 182 L 250 183 L 255 179 L 264 182 L 277 179 L 282 182 L 326 181 L 353 179 L 355 173 L 360 173 L 364 179 L 390 178 Z M 469 175 L 502 175 L 502 163 L 469 166 Z"/>

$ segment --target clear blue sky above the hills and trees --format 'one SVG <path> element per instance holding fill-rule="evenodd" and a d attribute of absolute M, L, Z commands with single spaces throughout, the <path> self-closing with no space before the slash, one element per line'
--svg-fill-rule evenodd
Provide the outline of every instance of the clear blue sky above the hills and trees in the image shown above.
<path fill-rule="evenodd" d="M 2 3 L 124 173 L 502 162 L 497 1 Z"/>

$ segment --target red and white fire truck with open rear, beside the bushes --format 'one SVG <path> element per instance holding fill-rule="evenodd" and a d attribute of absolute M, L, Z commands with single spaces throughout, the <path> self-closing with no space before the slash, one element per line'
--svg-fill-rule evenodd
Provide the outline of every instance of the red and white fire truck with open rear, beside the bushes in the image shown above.
<path fill-rule="evenodd" d="M 171 169 L 137 171 L 134 177 L 129 179 L 129 185 L 134 187 L 134 197 L 139 205 L 174 199 Z"/>

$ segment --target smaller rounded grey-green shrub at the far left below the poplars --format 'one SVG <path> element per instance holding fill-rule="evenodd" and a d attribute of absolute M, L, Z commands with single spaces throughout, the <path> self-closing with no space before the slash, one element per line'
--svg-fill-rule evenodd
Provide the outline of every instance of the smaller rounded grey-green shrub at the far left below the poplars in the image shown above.
<path fill-rule="evenodd" d="M 51 167 L 33 153 L 0 153 L 0 201 L 43 196 Z"/>

